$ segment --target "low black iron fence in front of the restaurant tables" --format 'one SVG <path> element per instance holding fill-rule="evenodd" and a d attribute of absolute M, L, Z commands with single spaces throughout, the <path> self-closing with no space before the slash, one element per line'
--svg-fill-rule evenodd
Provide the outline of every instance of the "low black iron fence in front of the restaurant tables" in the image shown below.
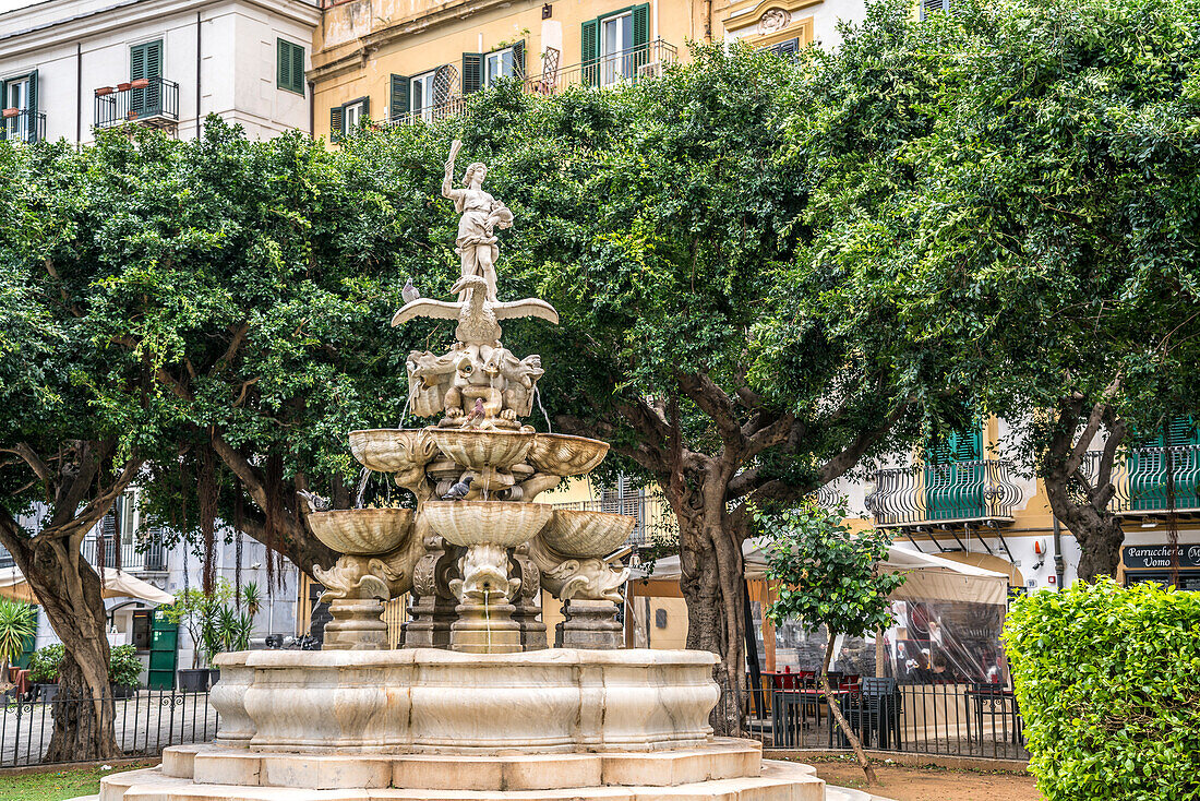
<path fill-rule="evenodd" d="M 1000 685 L 899 685 L 871 692 L 865 680 L 830 682 L 864 748 L 944 757 L 1027 760 L 1025 723 L 1013 692 Z M 749 693 L 748 736 L 767 748 L 847 748 L 816 680 Z M 724 703 L 724 701 L 722 701 Z"/>

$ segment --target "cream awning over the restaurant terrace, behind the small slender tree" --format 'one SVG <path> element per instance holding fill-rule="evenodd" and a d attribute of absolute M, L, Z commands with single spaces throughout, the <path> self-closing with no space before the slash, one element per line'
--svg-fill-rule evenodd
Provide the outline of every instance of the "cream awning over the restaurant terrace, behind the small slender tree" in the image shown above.
<path fill-rule="evenodd" d="M 748 579 L 767 578 L 767 557 L 760 545 L 758 539 L 742 543 Z M 902 545 L 892 545 L 883 568 L 907 576 L 900 588 L 892 593 L 893 600 L 966 600 L 1001 606 L 1008 604 L 1008 575 L 1003 573 L 922 554 Z M 632 578 L 678 581 L 679 557 L 658 560 L 653 573 L 634 570 Z"/>

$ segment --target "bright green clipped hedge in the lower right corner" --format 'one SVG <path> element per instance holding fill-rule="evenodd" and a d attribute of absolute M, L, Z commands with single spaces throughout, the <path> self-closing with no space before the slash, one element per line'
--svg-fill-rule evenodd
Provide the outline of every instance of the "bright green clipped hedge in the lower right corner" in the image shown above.
<path fill-rule="evenodd" d="M 1200 799 L 1200 593 L 1076 582 L 1004 640 L 1046 801 Z"/>

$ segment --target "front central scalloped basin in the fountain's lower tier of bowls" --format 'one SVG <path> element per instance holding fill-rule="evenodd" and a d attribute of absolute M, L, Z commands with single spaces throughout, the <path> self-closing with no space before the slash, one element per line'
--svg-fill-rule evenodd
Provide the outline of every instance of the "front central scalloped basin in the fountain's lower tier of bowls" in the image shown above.
<path fill-rule="evenodd" d="M 516 548 L 546 527 L 553 507 L 517 501 L 430 501 L 425 521 L 455 545 Z"/>

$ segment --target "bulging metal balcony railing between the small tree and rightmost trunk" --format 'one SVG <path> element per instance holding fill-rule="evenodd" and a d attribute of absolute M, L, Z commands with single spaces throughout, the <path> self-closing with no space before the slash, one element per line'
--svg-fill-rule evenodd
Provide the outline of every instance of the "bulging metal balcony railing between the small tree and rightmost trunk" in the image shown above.
<path fill-rule="evenodd" d="M 1012 462 L 979 459 L 876 471 L 865 502 L 880 526 L 919 526 L 1012 520 L 1020 500 Z"/>

